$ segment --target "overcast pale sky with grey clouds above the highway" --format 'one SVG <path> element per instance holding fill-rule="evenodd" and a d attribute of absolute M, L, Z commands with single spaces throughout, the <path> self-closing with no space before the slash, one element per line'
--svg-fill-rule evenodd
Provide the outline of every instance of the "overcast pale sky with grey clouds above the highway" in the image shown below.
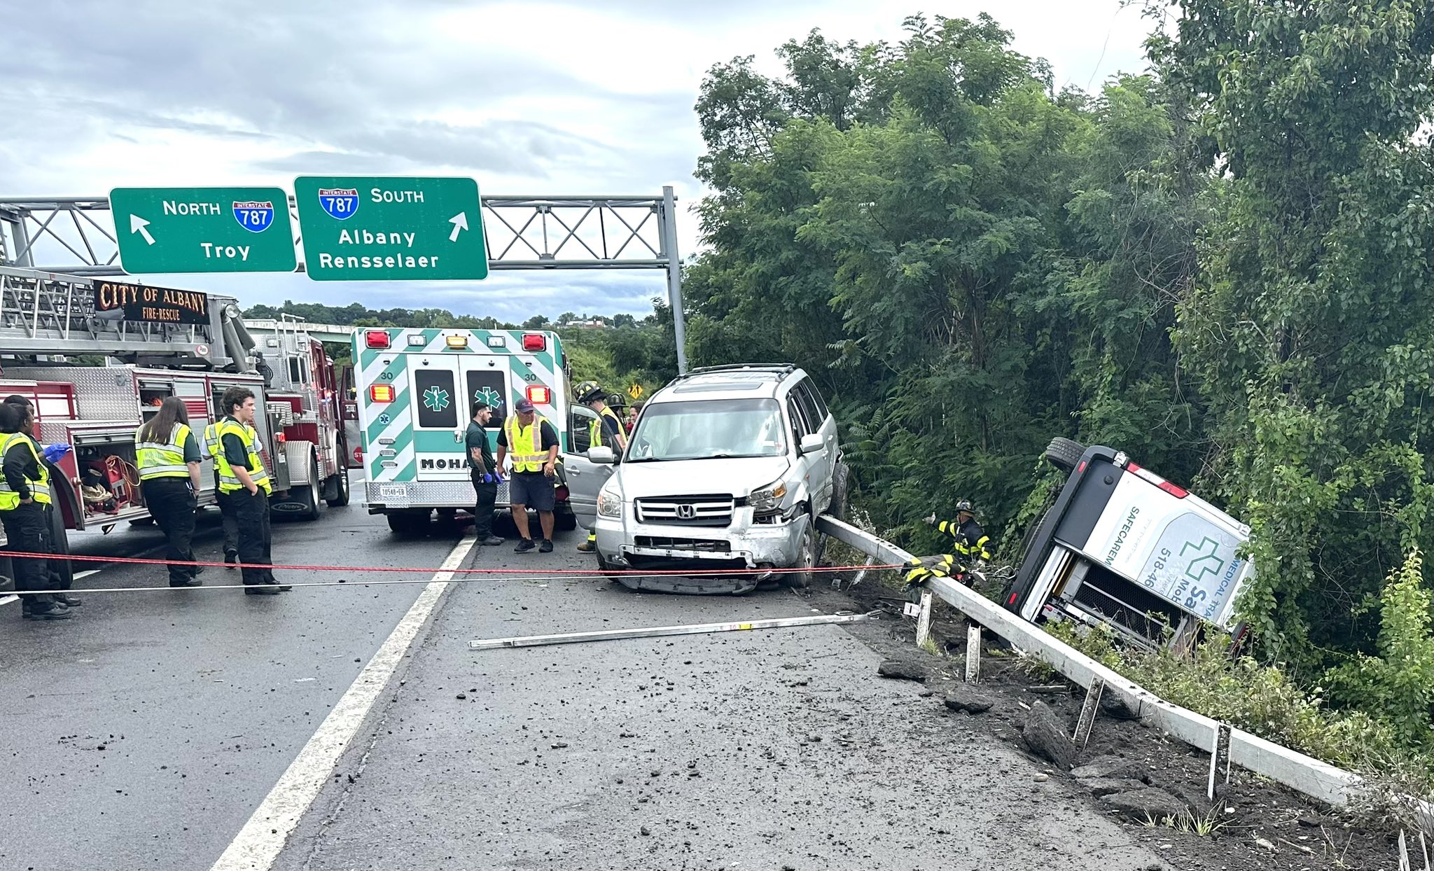
<path fill-rule="evenodd" d="M 601 9 L 601 11 L 599 11 Z M 37 0 L 0 3 L 0 197 L 115 187 L 262 184 L 298 174 L 470 175 L 485 194 L 660 194 L 683 208 L 707 69 L 813 27 L 902 37 L 905 16 L 989 11 L 1057 83 L 1143 69 L 1149 22 L 1120 0 Z M 315 283 L 165 276 L 155 283 L 523 320 L 647 314 L 661 273 L 493 273 L 483 283 Z"/>

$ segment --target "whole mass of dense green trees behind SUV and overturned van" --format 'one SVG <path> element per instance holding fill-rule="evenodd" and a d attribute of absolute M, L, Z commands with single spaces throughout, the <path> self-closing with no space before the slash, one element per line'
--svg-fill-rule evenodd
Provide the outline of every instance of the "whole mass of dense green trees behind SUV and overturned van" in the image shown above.
<path fill-rule="evenodd" d="M 987 16 L 713 67 L 691 356 L 812 372 L 916 548 L 969 498 L 1014 557 L 1054 435 L 1195 485 L 1256 656 L 1427 745 L 1434 10 L 1174 6 L 1096 95 Z"/>

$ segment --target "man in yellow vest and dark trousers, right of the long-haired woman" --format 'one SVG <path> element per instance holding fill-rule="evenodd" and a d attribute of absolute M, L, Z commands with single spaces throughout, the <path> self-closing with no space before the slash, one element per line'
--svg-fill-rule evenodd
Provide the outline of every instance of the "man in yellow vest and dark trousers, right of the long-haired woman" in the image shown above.
<path fill-rule="evenodd" d="M 274 491 L 264 461 L 260 459 L 254 430 L 254 390 L 229 387 L 219 400 L 225 418 L 219 420 L 219 452 L 214 463 L 219 469 L 219 492 L 234 499 L 234 515 L 239 524 L 239 564 L 244 573 L 245 595 L 275 595 L 288 590 L 274 580 L 270 558 L 270 505 Z"/>

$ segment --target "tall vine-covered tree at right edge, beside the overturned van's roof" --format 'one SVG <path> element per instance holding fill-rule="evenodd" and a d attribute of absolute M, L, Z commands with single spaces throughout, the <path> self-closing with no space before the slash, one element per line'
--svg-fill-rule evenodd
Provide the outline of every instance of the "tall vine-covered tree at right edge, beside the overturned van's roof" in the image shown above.
<path fill-rule="evenodd" d="M 1354 606 L 1431 540 L 1434 9 L 1176 6 L 1153 55 L 1222 178 L 1179 349 L 1207 479 L 1253 528 L 1242 610 L 1266 654 L 1318 666 L 1369 649 Z"/>

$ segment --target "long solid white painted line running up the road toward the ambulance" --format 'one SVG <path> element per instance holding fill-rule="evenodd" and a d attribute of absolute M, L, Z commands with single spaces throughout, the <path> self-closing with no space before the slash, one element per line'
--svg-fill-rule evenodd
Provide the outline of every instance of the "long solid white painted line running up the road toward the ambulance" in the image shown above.
<path fill-rule="evenodd" d="M 211 871 L 268 871 L 478 540 L 463 538 Z"/>

